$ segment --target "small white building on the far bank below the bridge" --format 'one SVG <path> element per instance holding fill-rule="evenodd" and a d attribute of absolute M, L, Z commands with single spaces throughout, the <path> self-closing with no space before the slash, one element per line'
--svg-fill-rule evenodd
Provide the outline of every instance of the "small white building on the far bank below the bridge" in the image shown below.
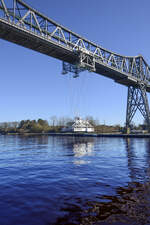
<path fill-rule="evenodd" d="M 62 129 L 64 132 L 94 132 L 94 127 L 88 120 L 83 120 L 80 117 L 76 117 L 74 123 L 70 127 Z"/>

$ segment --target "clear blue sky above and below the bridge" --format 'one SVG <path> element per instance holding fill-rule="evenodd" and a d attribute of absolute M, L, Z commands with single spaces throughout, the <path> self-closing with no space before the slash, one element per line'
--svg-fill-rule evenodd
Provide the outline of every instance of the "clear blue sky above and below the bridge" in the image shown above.
<path fill-rule="evenodd" d="M 7 1 L 7 0 L 6 0 Z M 150 64 L 150 1 L 25 0 L 43 14 L 122 55 L 142 54 Z M 127 88 L 95 73 L 62 76 L 61 61 L 0 40 L 0 121 L 92 115 L 124 124 Z M 148 94 L 149 95 L 149 94 Z M 79 103 L 77 103 L 79 101 Z M 138 113 L 134 121 L 140 123 Z"/>

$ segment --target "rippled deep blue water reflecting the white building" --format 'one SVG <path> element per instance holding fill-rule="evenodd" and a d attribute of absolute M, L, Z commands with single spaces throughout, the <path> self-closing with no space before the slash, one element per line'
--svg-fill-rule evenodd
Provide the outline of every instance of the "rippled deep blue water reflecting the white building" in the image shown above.
<path fill-rule="evenodd" d="M 120 190 L 149 176 L 149 138 L 2 135 L 0 225 L 107 224 Z"/>

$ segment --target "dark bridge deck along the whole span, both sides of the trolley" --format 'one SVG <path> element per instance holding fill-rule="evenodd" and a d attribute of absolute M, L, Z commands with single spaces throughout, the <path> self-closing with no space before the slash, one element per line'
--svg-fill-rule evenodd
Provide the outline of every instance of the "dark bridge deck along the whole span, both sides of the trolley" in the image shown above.
<path fill-rule="evenodd" d="M 75 52 L 66 46 L 55 43 L 52 40 L 47 40 L 46 38 L 40 37 L 39 35 L 35 35 L 28 30 L 12 26 L 1 19 L 0 38 L 71 64 L 75 64 L 75 62 L 78 60 Z M 95 72 L 97 74 L 111 78 L 115 82 L 122 85 L 138 87 L 138 79 L 136 77 L 123 73 L 115 68 L 112 69 L 103 63 L 96 62 Z M 150 85 L 147 85 L 146 90 L 150 92 Z"/>

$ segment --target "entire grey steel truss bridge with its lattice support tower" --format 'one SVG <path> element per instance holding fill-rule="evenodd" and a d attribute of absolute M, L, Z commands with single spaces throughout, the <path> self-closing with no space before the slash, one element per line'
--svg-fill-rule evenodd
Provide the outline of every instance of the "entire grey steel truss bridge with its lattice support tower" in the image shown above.
<path fill-rule="evenodd" d="M 63 74 L 89 70 L 128 87 L 126 126 L 137 110 L 150 128 L 150 67 L 142 55 L 108 51 L 56 23 L 21 0 L 0 0 L 0 38 L 63 61 Z"/>

